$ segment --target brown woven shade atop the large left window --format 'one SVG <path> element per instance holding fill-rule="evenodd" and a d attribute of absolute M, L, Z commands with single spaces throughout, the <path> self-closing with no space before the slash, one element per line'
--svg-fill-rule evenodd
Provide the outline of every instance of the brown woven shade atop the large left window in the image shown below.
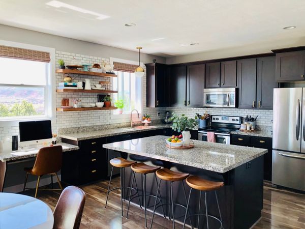
<path fill-rule="evenodd" d="M 0 45 L 0 57 L 28 61 L 50 62 L 50 53 Z"/>

